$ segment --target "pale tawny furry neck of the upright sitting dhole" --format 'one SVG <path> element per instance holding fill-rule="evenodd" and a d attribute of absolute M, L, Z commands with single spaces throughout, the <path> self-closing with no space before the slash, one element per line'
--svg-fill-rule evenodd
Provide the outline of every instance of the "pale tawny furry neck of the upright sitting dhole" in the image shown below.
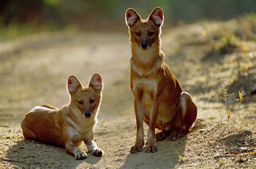
<path fill-rule="evenodd" d="M 131 43 L 131 51 L 131 69 L 139 76 L 148 76 L 164 64 L 164 53 L 160 49 L 160 43 L 152 44 L 147 50 Z"/>

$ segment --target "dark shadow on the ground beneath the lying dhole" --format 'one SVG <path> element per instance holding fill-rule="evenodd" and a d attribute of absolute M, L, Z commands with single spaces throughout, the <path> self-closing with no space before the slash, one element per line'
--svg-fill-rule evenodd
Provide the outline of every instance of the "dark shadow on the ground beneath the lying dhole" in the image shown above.
<path fill-rule="evenodd" d="M 19 140 L 15 145 L 11 146 L 5 157 L 5 161 L 9 161 L 17 167 L 64 167 L 75 168 L 79 164 L 86 162 L 89 165 L 97 164 L 101 157 L 94 157 L 87 153 L 85 160 L 75 160 L 65 149 L 42 144 L 33 140 Z"/>

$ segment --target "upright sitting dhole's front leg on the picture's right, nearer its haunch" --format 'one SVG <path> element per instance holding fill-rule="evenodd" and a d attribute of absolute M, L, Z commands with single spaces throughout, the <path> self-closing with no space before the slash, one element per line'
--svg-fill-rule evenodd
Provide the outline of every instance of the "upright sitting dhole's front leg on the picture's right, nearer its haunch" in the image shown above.
<path fill-rule="evenodd" d="M 152 99 L 151 107 L 150 107 L 150 124 L 149 130 L 147 130 L 147 153 L 156 152 L 157 147 L 155 143 L 155 129 L 156 129 L 156 122 L 157 122 L 157 113 L 158 113 L 158 98 L 155 97 Z"/>

